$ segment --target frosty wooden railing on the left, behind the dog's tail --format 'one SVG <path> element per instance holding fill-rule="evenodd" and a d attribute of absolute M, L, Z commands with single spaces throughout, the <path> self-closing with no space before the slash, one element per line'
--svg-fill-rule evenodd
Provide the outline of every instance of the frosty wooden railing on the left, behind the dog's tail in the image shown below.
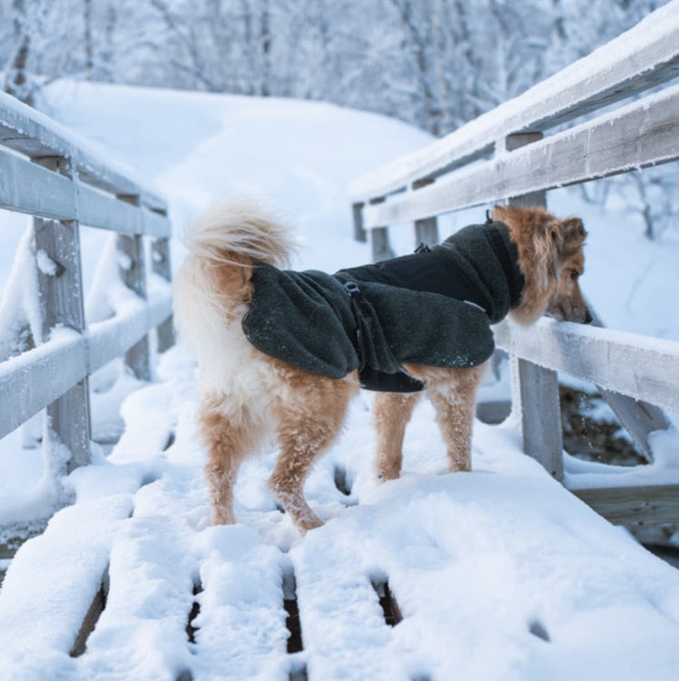
<path fill-rule="evenodd" d="M 49 437 L 71 452 L 67 468 L 90 460 L 88 377 L 119 356 L 151 378 L 149 332 L 172 345 L 166 203 L 104 163 L 59 124 L 0 94 L 0 208 L 34 215 L 40 326 L 33 349 L 0 363 L 0 437 L 46 408 Z M 112 318 L 87 324 L 80 225 L 117 232 L 120 278 L 135 294 Z M 151 267 L 144 240 L 150 240 Z M 151 269 L 167 286 L 147 292 Z M 162 291 L 162 289 L 166 289 Z"/>

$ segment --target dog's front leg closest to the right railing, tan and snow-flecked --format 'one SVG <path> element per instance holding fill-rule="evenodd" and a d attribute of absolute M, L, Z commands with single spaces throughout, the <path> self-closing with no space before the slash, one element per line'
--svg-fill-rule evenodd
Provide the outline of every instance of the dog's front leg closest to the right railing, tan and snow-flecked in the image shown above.
<path fill-rule="evenodd" d="M 432 375 L 428 396 L 437 410 L 438 426 L 446 443 L 448 471 L 471 470 L 471 430 L 477 388 L 485 365 L 450 369 Z"/>

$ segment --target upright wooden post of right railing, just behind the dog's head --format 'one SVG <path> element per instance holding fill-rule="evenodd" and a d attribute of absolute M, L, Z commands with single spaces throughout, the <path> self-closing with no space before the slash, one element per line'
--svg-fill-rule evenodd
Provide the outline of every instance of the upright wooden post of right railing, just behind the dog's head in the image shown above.
<path fill-rule="evenodd" d="M 542 139 L 542 133 L 508 135 L 508 152 Z M 509 200 L 514 206 L 546 206 L 546 192 L 531 192 Z M 511 358 L 512 410 L 519 415 L 526 454 L 539 461 L 557 480 L 564 478 L 564 443 L 556 371 Z"/>

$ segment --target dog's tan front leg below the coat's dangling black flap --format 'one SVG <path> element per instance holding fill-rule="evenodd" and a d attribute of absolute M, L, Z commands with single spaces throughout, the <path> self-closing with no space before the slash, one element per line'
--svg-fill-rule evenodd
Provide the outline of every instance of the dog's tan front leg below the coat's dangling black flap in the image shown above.
<path fill-rule="evenodd" d="M 378 392 L 375 395 L 375 429 L 378 443 L 374 467 L 379 480 L 392 480 L 400 475 L 406 426 L 420 394 Z"/>

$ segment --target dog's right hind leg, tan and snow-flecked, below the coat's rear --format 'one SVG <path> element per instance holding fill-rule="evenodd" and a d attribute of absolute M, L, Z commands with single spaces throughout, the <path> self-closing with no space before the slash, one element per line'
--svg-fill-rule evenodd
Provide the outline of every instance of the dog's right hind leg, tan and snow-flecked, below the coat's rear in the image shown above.
<path fill-rule="evenodd" d="M 312 376 L 293 400 L 279 406 L 280 452 L 269 487 L 295 526 L 302 532 L 318 528 L 322 520 L 304 498 L 304 481 L 320 455 L 339 435 L 358 384 Z M 303 377 L 302 377 L 303 378 Z"/>

